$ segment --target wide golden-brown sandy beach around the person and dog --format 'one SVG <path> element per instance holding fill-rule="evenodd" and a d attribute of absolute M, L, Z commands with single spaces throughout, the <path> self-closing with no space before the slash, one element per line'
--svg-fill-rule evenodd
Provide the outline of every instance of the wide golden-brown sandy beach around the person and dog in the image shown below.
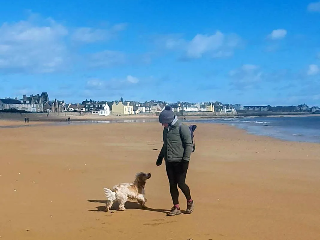
<path fill-rule="evenodd" d="M 173 217 L 153 150 L 160 124 L 0 128 L 1 239 L 319 239 L 319 144 L 197 125 L 187 175 L 195 211 Z M 125 212 L 104 212 L 103 187 L 140 171 L 152 174 L 148 209 L 129 202 Z"/>

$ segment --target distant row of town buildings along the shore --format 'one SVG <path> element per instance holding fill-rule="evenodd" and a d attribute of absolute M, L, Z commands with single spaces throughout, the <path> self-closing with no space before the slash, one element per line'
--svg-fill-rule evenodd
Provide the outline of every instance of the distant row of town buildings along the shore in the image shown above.
<path fill-rule="evenodd" d="M 257 116 L 273 114 L 320 114 L 317 106 L 309 107 L 306 104 L 298 106 L 243 106 L 241 104 L 223 104 L 222 102 L 176 102 L 167 103 L 160 100 L 145 102 L 127 101 L 122 98 L 115 101 L 97 101 L 85 99 L 81 103 L 66 103 L 64 100 L 49 100 L 47 92 L 36 95 L 22 95 L 21 99 L 0 98 L 0 112 L 23 113 L 63 113 L 78 112 L 84 114 L 97 114 L 108 116 L 158 114 L 170 105 L 172 111 L 180 116 Z"/>

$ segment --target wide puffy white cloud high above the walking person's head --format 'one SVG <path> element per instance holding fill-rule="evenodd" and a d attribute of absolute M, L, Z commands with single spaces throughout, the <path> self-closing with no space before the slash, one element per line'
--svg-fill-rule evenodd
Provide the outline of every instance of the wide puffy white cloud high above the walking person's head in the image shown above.
<path fill-rule="evenodd" d="M 202 58 L 205 54 L 211 57 L 229 57 L 240 45 L 241 39 L 235 34 L 223 34 L 216 31 L 212 35 L 197 34 L 190 41 L 169 37 L 164 46 L 168 50 L 182 51 L 185 58 Z"/>

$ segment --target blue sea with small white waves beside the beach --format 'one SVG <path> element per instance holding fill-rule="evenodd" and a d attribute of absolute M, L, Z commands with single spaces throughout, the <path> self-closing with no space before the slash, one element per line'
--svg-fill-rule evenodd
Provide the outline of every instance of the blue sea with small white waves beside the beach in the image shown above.
<path fill-rule="evenodd" d="M 220 123 L 281 140 L 320 143 L 319 116 L 205 118 L 187 122 Z"/>

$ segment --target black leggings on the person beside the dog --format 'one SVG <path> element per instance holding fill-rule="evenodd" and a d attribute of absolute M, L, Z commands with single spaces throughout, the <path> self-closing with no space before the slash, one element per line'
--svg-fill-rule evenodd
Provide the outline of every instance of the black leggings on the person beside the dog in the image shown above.
<path fill-rule="evenodd" d="M 167 171 L 169 184 L 170 184 L 170 194 L 172 197 L 173 205 L 179 204 L 179 191 L 178 187 L 186 196 L 187 201 L 191 199 L 190 189 L 186 184 L 187 170 L 189 167 L 188 161 L 182 161 L 177 163 L 166 162 L 165 169 Z"/>

